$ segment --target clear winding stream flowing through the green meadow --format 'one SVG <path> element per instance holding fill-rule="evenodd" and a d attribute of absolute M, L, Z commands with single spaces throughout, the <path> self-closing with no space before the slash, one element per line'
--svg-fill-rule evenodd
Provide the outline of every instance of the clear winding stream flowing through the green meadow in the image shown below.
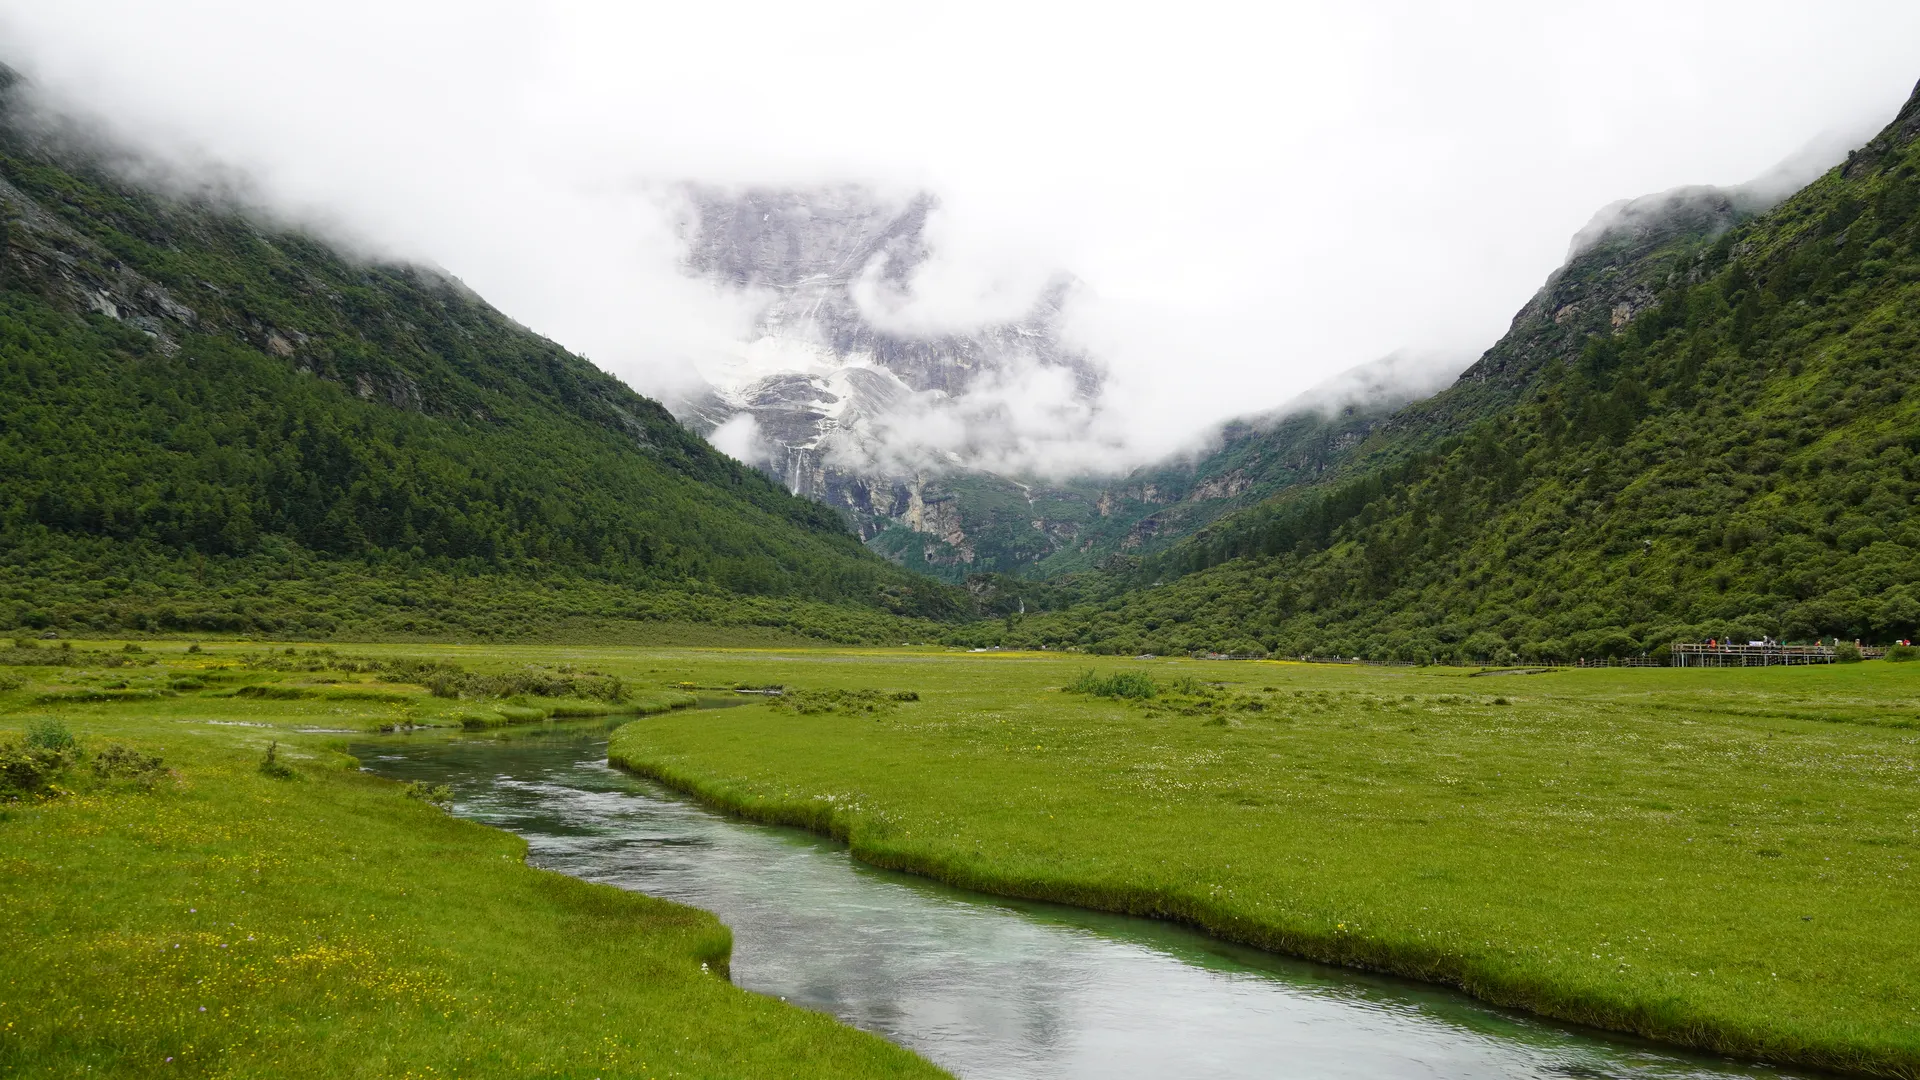
<path fill-rule="evenodd" d="M 1788 1072 L 1507 1013 L 1204 934 L 876 871 L 607 767 L 607 732 L 382 736 L 396 780 L 516 832 L 530 861 L 703 907 L 733 982 L 987 1078 L 1724 1078 Z M 1801 1076 L 1801 1074 L 1795 1074 Z"/>

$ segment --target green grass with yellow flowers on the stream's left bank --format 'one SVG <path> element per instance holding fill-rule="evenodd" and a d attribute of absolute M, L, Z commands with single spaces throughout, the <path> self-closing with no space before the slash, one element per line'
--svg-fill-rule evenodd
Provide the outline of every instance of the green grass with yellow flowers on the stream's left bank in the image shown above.
<path fill-rule="evenodd" d="M 58 740 L 48 721 L 79 740 L 60 792 L 0 796 L 0 1074 L 941 1076 L 728 984 L 710 915 L 528 869 L 518 838 L 357 773 L 313 730 L 682 694 L 436 698 L 409 671 L 309 650 L 240 665 L 240 646 L 184 648 L 0 665 L 0 744 Z M 436 659 L 468 678 L 526 671 L 505 650 Z M 599 686 L 563 665 L 541 671 Z M 275 740 L 284 778 L 259 769 Z M 109 759 L 132 765 L 96 774 Z"/>

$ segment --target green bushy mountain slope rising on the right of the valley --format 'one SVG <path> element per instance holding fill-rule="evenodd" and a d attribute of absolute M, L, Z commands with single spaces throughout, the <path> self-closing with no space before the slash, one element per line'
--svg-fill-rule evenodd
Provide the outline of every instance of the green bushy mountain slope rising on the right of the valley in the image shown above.
<path fill-rule="evenodd" d="M 973 638 L 1421 659 L 1910 636 L 1916 138 L 1920 90 L 1766 213 L 1642 204 L 1334 482 Z"/>

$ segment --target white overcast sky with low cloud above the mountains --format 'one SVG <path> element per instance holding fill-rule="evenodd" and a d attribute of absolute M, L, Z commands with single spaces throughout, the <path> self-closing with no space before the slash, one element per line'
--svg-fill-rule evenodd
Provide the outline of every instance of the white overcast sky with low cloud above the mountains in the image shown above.
<path fill-rule="evenodd" d="M 0 0 L 0 35 L 639 388 L 739 332 L 655 192 L 933 190 L 927 309 L 1073 271 L 1144 450 L 1394 350 L 1463 365 L 1603 204 L 1859 142 L 1920 79 L 1912 0 Z"/>

